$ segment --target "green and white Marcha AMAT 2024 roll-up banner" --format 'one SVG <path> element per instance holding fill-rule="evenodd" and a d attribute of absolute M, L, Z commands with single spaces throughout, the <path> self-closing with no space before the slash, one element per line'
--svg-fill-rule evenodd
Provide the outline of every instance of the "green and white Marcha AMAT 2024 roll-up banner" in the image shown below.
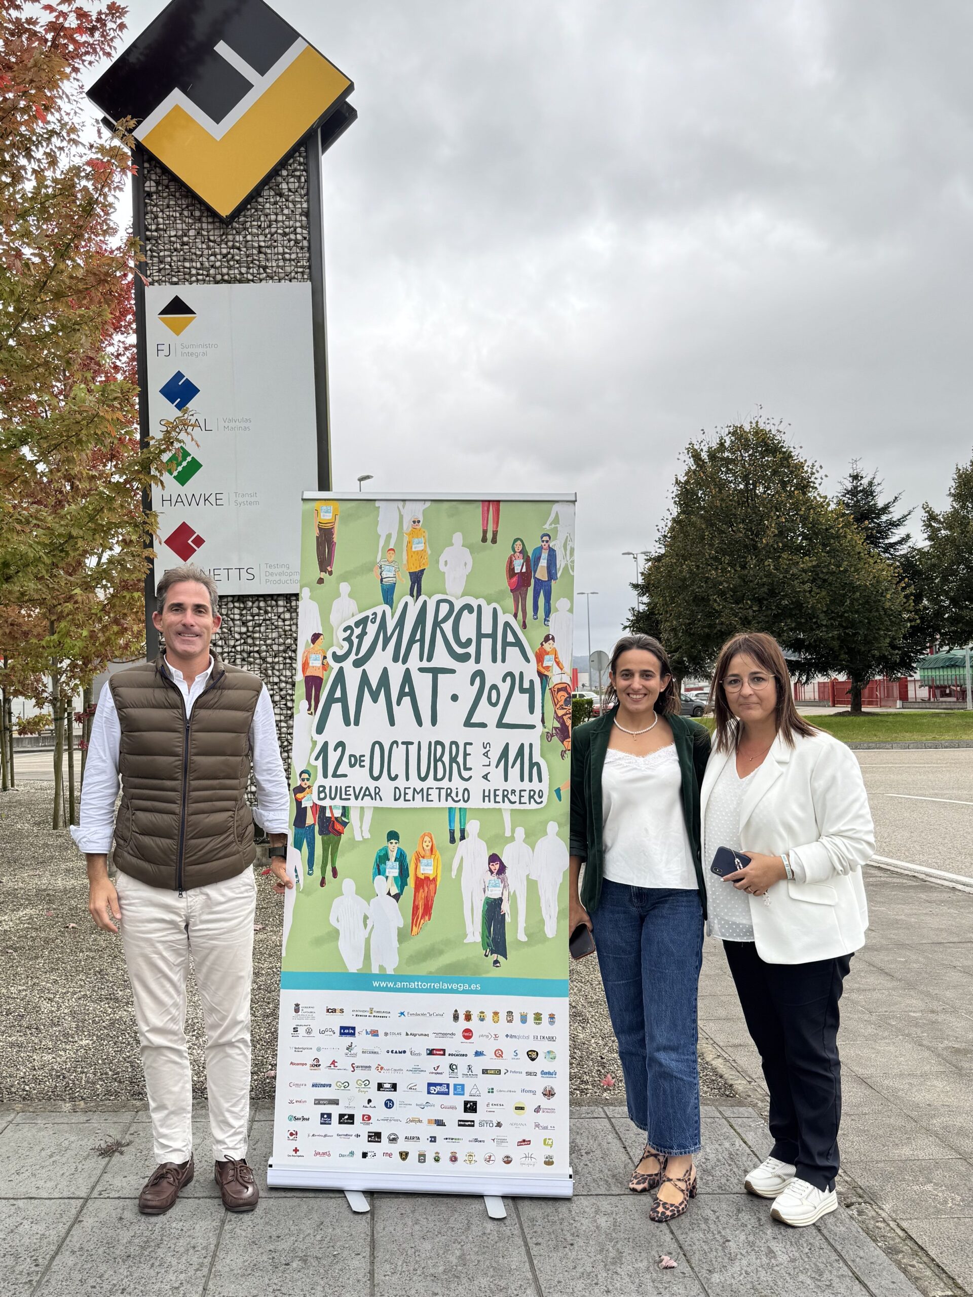
<path fill-rule="evenodd" d="M 271 1185 L 571 1193 L 573 533 L 304 498 Z"/>

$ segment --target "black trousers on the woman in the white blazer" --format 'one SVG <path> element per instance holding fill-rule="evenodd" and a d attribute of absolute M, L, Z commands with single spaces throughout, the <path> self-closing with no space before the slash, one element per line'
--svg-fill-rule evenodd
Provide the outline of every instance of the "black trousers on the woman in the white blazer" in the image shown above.
<path fill-rule="evenodd" d="M 765 964 L 752 942 L 724 942 L 747 1030 L 771 1092 L 771 1157 L 817 1189 L 838 1174 L 838 1000 L 851 956 Z"/>

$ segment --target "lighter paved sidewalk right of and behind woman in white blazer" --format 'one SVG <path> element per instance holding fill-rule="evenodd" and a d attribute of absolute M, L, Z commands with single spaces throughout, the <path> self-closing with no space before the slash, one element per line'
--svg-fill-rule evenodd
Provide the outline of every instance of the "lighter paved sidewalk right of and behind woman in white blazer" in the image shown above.
<path fill-rule="evenodd" d="M 877 868 L 865 886 L 868 942 L 841 1003 L 838 1187 L 928 1297 L 973 1292 L 973 894 Z M 704 947 L 703 1049 L 765 1114 L 725 957 Z"/>

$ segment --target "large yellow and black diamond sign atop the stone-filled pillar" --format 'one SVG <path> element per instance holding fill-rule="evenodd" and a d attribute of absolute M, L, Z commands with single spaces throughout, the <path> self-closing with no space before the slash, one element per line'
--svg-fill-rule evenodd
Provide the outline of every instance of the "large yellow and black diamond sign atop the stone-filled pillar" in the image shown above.
<path fill-rule="evenodd" d="M 337 139 L 353 89 L 263 0 L 173 0 L 88 96 L 230 220 L 311 127 Z"/>

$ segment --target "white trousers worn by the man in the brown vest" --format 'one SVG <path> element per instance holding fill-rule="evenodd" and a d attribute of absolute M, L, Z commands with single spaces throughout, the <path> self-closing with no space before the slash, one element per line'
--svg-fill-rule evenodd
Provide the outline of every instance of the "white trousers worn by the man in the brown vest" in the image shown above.
<path fill-rule="evenodd" d="M 180 896 L 121 870 L 122 946 L 157 1162 L 192 1153 L 192 1073 L 186 979 L 192 957 L 206 1023 L 206 1088 L 214 1157 L 246 1156 L 250 1106 L 250 981 L 257 879 L 253 869 Z"/>

